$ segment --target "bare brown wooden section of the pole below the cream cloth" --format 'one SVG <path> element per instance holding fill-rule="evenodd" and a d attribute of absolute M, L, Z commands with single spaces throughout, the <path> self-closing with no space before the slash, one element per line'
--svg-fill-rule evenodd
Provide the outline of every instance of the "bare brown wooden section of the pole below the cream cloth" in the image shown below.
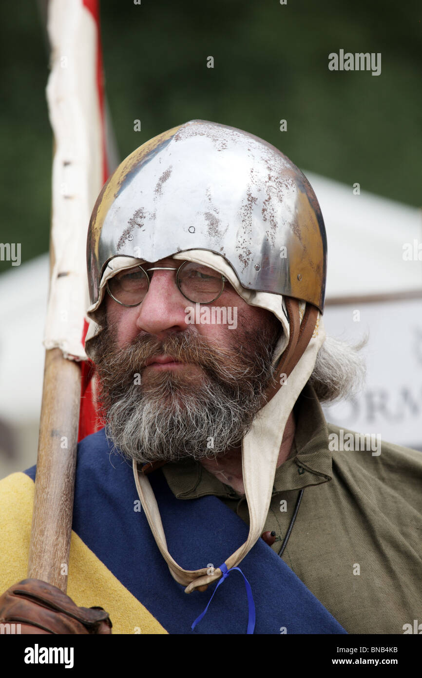
<path fill-rule="evenodd" d="M 72 531 L 81 370 L 59 348 L 45 352 L 43 404 L 28 577 L 64 593 Z"/>

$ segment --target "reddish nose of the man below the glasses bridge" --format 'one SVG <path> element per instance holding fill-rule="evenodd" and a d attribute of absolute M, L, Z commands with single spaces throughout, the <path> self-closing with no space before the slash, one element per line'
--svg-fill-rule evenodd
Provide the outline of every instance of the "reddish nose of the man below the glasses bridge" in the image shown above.
<path fill-rule="evenodd" d="M 178 289 L 175 274 L 176 271 L 148 273 L 150 286 L 139 306 L 136 320 L 136 326 L 140 330 L 165 338 L 169 332 L 183 332 L 187 329 L 187 314 L 184 309 L 193 304 Z"/>

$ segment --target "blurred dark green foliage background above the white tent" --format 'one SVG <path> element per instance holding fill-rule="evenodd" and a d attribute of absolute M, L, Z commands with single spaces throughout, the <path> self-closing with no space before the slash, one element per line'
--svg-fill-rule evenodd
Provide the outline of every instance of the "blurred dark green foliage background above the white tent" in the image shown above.
<path fill-rule="evenodd" d="M 164 129 L 212 120 L 265 138 L 299 167 L 421 205 L 419 3 L 102 0 L 101 16 L 121 159 Z M 1 3 L 0 25 L 0 241 L 22 243 L 25 261 L 48 249 L 48 50 L 37 3 Z M 381 52 L 381 75 L 329 71 L 339 49 Z"/>

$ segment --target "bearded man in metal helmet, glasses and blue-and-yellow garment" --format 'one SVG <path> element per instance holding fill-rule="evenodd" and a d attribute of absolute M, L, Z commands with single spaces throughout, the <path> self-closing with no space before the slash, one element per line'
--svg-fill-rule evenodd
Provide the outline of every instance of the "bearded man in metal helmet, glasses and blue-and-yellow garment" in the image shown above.
<path fill-rule="evenodd" d="M 87 259 L 105 427 L 79 444 L 70 597 L 12 586 L 30 523 L 11 498 L 29 506 L 32 468 L 2 481 L 0 619 L 403 633 L 420 611 L 421 458 L 330 449 L 320 401 L 356 389 L 362 365 L 325 336 L 324 223 L 299 169 L 239 129 L 174 127 L 104 186 Z"/>

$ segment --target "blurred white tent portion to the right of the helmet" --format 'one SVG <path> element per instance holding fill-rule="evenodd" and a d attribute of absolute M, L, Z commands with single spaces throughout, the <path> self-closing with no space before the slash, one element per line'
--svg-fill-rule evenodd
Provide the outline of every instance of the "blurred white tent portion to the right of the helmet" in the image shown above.
<path fill-rule="evenodd" d="M 326 225 L 327 334 L 368 334 L 366 387 L 326 418 L 422 450 L 422 212 L 306 174 Z"/>

